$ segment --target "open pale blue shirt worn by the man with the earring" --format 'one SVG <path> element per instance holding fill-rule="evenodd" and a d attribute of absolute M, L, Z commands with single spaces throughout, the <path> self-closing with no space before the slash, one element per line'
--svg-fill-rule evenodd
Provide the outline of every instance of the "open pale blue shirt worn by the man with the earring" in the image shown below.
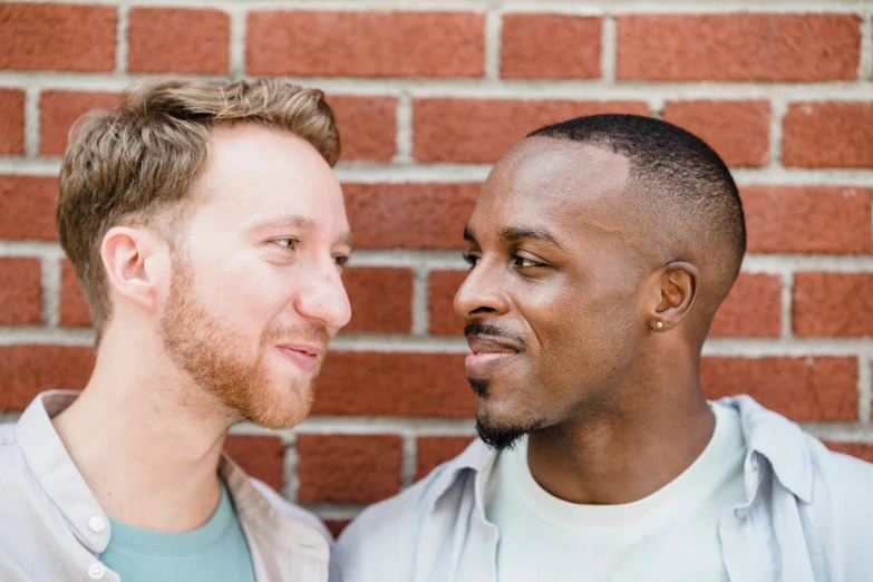
<path fill-rule="evenodd" d="M 873 465 L 748 396 L 719 402 L 738 410 L 746 442 L 745 498 L 718 525 L 731 582 L 873 581 Z M 496 457 L 476 440 L 367 508 L 334 547 L 331 582 L 496 582 L 499 531 L 483 503 Z"/>

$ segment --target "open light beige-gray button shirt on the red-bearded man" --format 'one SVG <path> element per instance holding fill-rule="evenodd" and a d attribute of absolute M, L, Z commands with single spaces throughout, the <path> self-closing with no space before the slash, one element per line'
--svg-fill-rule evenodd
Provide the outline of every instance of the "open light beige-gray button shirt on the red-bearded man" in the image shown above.
<path fill-rule="evenodd" d="M 0 425 L 0 581 L 118 582 L 99 555 L 111 536 L 51 424 L 78 392 L 38 396 L 16 424 Z M 328 580 L 323 524 L 250 478 L 226 456 L 219 472 L 233 498 L 259 582 Z"/>

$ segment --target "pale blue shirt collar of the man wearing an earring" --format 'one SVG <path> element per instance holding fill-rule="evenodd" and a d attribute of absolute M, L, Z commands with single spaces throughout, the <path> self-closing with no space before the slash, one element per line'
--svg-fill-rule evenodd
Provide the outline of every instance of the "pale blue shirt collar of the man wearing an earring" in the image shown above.
<path fill-rule="evenodd" d="M 799 426 L 784 416 L 760 406 L 746 395 L 730 396 L 718 400 L 739 411 L 740 427 L 746 439 L 747 460 L 757 453 L 773 467 L 776 477 L 792 494 L 804 503 L 813 501 L 813 464 L 809 448 Z M 430 491 L 431 511 L 439 499 L 463 481 L 467 472 L 475 474 L 474 495 L 478 511 L 484 512 L 483 492 L 498 453 L 491 450 L 481 439 L 476 439 L 457 457 L 444 465 L 435 475 Z M 748 492 L 749 498 L 757 493 L 760 484 L 758 462 L 746 463 L 746 481 L 757 484 Z"/>

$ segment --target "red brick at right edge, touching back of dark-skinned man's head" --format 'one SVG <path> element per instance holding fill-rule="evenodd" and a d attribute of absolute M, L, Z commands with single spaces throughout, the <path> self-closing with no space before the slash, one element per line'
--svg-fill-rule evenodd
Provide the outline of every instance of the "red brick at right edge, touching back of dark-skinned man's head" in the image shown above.
<path fill-rule="evenodd" d="M 873 190 L 748 186 L 740 191 L 751 253 L 870 253 Z"/>

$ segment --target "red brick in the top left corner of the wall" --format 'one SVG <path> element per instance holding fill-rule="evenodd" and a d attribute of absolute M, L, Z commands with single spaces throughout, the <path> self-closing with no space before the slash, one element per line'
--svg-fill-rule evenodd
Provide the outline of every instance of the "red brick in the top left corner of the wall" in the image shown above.
<path fill-rule="evenodd" d="M 116 9 L 0 3 L 0 69 L 110 71 Z"/>

